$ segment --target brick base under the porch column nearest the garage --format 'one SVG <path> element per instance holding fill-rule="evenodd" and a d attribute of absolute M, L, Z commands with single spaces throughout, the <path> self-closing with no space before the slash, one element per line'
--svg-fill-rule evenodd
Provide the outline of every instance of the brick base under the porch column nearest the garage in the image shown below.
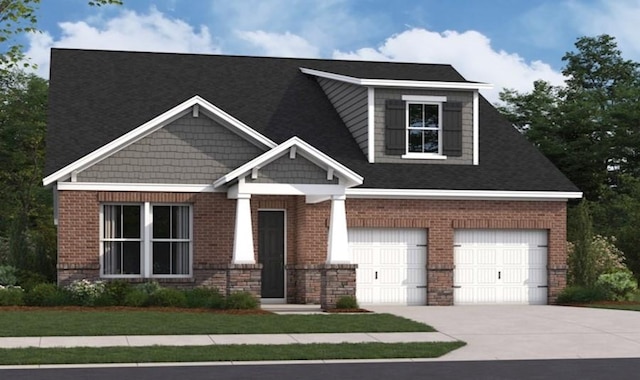
<path fill-rule="evenodd" d="M 325 264 L 320 268 L 320 307 L 332 309 L 340 297 L 356 296 L 358 264 Z"/>

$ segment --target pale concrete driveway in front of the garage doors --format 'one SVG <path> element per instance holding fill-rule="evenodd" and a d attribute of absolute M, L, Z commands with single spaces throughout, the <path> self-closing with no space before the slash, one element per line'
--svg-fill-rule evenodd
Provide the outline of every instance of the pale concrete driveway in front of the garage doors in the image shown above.
<path fill-rule="evenodd" d="M 563 306 L 368 306 L 467 342 L 440 360 L 640 357 L 640 312 Z"/>

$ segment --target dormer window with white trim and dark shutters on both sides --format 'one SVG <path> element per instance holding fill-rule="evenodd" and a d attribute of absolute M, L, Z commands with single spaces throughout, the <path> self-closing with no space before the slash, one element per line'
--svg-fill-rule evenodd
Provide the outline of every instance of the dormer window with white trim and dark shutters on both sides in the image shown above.
<path fill-rule="evenodd" d="M 462 156 L 462 103 L 445 96 L 387 100 L 385 153 L 408 159 Z"/>

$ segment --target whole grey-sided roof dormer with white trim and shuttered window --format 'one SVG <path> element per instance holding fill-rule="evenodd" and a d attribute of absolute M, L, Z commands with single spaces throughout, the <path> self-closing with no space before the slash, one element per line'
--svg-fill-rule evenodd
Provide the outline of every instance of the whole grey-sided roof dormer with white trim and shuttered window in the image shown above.
<path fill-rule="evenodd" d="M 487 83 L 315 76 L 370 163 L 478 165 L 479 90 Z"/>

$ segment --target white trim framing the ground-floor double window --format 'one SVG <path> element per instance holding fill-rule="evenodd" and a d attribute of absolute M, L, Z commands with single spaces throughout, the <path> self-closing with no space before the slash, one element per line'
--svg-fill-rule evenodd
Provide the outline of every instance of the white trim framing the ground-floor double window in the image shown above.
<path fill-rule="evenodd" d="M 104 272 L 104 242 L 113 241 L 113 239 L 104 238 L 104 206 L 122 206 L 137 205 L 140 206 L 140 274 L 105 274 Z M 152 206 L 186 206 L 189 208 L 189 239 L 183 241 L 189 242 L 189 273 L 188 274 L 153 274 L 153 212 Z M 120 239 L 118 239 L 120 240 Z M 126 239 L 131 240 L 132 239 Z M 162 241 L 177 241 L 175 239 L 161 239 Z M 124 241 L 124 240 L 123 240 Z M 160 241 L 160 240 L 155 240 Z M 193 207 L 190 204 L 183 203 L 151 203 L 151 202 L 106 202 L 100 205 L 100 277 L 101 278 L 191 278 L 193 276 Z"/>

